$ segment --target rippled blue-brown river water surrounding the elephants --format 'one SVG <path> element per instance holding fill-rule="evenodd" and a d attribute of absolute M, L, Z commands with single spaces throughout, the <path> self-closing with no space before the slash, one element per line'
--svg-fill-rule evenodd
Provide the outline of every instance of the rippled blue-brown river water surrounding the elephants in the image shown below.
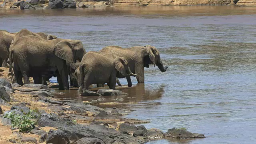
<path fill-rule="evenodd" d="M 157 140 L 149 144 L 255 144 L 256 8 L 151 6 L 72 10 L 0 10 L 0 29 L 27 28 L 78 39 L 86 51 L 109 45 L 150 44 L 160 51 L 162 73 L 145 68 L 145 84 L 124 88 L 127 118 L 149 120 L 146 128 L 188 128 L 206 138 Z M 56 79 L 52 79 L 56 81 Z M 121 80 L 126 84 L 126 80 Z M 80 97 L 76 90 L 58 98 Z M 134 97 L 134 98 L 128 98 Z M 102 107 L 111 107 L 99 105 Z"/>

